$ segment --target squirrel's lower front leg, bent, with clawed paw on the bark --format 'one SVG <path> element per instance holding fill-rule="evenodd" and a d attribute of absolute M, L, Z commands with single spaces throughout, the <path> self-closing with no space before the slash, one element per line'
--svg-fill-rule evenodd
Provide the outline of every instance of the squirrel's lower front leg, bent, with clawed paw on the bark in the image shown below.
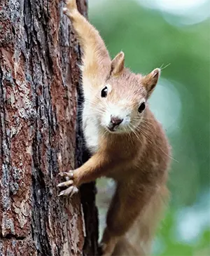
<path fill-rule="evenodd" d="M 66 182 L 61 182 L 57 187 L 67 187 L 61 191 L 59 196 L 72 196 L 81 184 L 92 182 L 98 177 L 106 175 L 107 170 L 113 168 L 113 161 L 108 161 L 104 153 L 94 154 L 87 162 L 77 168 L 70 170 L 68 173 L 59 173 L 60 176 L 66 177 Z"/>

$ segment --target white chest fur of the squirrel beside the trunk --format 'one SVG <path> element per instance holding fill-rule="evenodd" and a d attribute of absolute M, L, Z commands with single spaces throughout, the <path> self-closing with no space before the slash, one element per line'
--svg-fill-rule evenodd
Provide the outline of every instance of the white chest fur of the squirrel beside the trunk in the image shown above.
<path fill-rule="evenodd" d="M 94 154 L 99 148 L 99 125 L 89 103 L 85 102 L 83 107 L 83 133 L 87 149 Z"/>

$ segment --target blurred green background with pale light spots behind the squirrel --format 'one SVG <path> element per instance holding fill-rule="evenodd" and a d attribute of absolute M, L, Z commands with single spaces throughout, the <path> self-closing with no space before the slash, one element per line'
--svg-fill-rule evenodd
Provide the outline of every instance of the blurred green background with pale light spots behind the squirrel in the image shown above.
<path fill-rule="evenodd" d="M 147 74 L 165 67 L 151 97 L 173 148 L 172 200 L 155 256 L 210 256 L 210 1 L 89 0 L 90 22 L 111 57 Z M 113 191 L 98 182 L 100 232 Z"/>

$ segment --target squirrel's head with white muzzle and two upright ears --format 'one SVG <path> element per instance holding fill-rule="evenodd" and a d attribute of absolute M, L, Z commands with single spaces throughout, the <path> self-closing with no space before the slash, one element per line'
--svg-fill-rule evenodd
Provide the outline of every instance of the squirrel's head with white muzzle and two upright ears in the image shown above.
<path fill-rule="evenodd" d="M 124 67 L 124 60 L 123 52 L 116 55 L 109 79 L 97 92 L 100 123 L 111 133 L 130 132 L 139 126 L 160 76 L 160 69 L 146 76 L 134 74 Z"/>

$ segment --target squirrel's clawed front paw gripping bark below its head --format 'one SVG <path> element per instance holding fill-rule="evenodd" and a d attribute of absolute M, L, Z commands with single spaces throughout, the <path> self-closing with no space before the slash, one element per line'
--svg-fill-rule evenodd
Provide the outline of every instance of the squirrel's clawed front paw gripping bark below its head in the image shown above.
<path fill-rule="evenodd" d="M 67 187 L 62 190 L 58 196 L 73 196 L 73 194 L 78 192 L 78 188 L 73 184 L 73 170 L 70 170 L 68 173 L 59 173 L 59 176 L 65 177 L 66 182 L 61 182 L 57 187 Z"/>

